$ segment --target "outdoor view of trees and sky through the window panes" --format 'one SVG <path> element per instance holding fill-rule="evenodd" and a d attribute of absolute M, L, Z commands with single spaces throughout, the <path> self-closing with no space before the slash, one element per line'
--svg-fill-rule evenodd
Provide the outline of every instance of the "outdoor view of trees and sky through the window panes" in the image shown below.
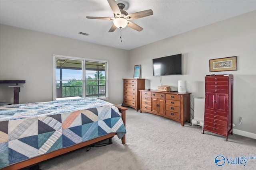
<path fill-rule="evenodd" d="M 58 59 L 56 59 L 58 64 Z M 74 65 L 77 64 L 76 67 Z M 84 97 L 106 96 L 106 63 L 86 62 Z M 57 98 L 83 97 L 82 61 L 67 60 L 56 67 Z"/>

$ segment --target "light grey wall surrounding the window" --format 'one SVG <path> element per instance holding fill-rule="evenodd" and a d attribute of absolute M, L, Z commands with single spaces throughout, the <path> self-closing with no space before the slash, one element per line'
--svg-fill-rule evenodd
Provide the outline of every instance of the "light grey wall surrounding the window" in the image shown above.
<path fill-rule="evenodd" d="M 109 61 L 108 102 L 122 104 L 128 51 L 0 25 L 0 80 L 26 80 L 20 103 L 52 101 L 53 54 Z M 13 101 L 13 88 L 8 85 L 0 84 L 1 102 Z"/>

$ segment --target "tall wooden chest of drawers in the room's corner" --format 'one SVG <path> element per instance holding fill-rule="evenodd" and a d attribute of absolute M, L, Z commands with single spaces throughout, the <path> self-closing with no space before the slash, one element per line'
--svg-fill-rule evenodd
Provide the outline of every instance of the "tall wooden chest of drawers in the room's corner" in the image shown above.
<path fill-rule="evenodd" d="M 122 106 L 130 106 L 136 111 L 140 109 L 140 92 L 145 89 L 144 78 L 123 78 L 124 80 L 124 101 Z"/>

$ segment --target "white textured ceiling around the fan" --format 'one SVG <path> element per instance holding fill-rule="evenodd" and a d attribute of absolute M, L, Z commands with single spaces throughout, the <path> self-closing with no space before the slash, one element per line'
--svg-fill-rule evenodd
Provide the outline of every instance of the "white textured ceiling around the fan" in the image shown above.
<path fill-rule="evenodd" d="M 128 14 L 152 9 L 154 14 L 131 20 L 144 29 L 125 27 L 109 33 L 113 18 L 107 0 L 0 0 L 0 23 L 90 43 L 134 49 L 198 27 L 256 10 L 256 0 L 116 0 Z M 78 32 L 88 33 L 88 36 Z"/>

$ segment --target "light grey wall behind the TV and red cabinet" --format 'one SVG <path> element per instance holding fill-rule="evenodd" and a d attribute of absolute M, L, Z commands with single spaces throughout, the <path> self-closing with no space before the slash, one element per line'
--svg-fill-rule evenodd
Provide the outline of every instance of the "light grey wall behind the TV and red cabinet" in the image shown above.
<path fill-rule="evenodd" d="M 209 59 L 237 56 L 238 70 L 214 73 L 234 75 L 233 123 L 243 118 L 243 124 L 234 129 L 256 137 L 256 11 L 130 50 L 130 77 L 134 65 L 141 64 L 145 88 L 157 89 L 160 78 L 153 76 L 152 59 L 179 53 L 183 75 L 162 76 L 162 82 L 176 90 L 178 80 L 186 80 L 192 103 L 194 96 L 204 97 Z"/>

